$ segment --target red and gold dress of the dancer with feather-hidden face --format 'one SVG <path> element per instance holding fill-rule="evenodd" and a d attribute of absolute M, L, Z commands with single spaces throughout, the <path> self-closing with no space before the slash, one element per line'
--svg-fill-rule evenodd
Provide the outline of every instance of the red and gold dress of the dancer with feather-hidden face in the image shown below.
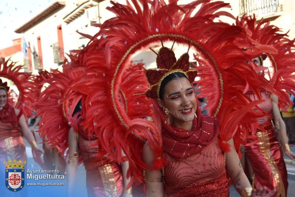
<path fill-rule="evenodd" d="M 79 128 L 78 146 L 86 169 L 88 197 L 119 197 L 123 192 L 123 176 L 116 161 L 97 157 L 98 141 Z"/>

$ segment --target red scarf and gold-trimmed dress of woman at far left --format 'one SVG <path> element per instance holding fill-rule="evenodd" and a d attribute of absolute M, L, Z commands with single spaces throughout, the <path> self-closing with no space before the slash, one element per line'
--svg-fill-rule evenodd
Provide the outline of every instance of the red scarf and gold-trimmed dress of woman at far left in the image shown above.
<path fill-rule="evenodd" d="M 18 119 L 21 115 L 21 111 L 16 115 L 14 108 L 8 103 L 0 110 L 1 161 L 8 159 L 27 160 L 25 143 L 18 125 Z"/>

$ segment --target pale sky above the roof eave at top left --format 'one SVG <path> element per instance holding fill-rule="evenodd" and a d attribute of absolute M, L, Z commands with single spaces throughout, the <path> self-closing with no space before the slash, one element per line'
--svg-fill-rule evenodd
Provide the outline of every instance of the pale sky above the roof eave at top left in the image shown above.
<path fill-rule="evenodd" d="M 0 49 L 12 46 L 21 38 L 14 30 L 42 12 L 57 0 L 0 0 Z"/>

